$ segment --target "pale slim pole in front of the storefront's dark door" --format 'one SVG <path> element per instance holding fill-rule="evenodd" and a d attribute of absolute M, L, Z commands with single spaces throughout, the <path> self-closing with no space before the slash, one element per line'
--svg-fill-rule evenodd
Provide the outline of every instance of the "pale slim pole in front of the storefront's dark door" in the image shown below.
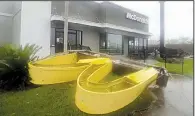
<path fill-rule="evenodd" d="M 64 1 L 65 9 L 64 9 L 64 52 L 68 52 L 68 7 L 69 1 Z"/>

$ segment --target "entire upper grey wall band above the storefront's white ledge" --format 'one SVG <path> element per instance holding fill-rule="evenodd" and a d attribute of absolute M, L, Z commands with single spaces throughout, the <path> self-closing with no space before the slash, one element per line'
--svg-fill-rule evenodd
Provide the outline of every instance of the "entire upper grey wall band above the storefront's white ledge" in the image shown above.
<path fill-rule="evenodd" d="M 64 16 L 64 1 L 52 1 L 52 14 Z M 69 2 L 69 17 L 92 21 L 96 23 L 110 23 L 132 29 L 148 32 L 148 24 L 143 24 L 126 18 L 126 13 L 147 18 L 138 12 L 123 8 L 114 3 L 93 1 L 71 1 Z"/>

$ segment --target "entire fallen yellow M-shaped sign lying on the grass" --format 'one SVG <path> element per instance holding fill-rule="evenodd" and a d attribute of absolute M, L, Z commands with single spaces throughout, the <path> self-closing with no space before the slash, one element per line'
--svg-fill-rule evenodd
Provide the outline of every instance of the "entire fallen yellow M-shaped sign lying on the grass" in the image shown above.
<path fill-rule="evenodd" d="M 55 56 L 35 64 L 38 65 L 29 63 L 32 83 L 53 84 L 77 79 L 75 104 L 89 114 L 106 114 L 123 108 L 155 81 L 158 74 L 154 68 L 146 68 L 111 82 L 100 82 L 112 71 L 112 61 L 109 58 L 78 59 L 76 54 Z"/>

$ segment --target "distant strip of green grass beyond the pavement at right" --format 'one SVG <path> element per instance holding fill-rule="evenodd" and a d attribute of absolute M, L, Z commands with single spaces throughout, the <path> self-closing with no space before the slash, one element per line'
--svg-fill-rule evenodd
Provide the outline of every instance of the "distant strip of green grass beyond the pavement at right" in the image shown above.
<path fill-rule="evenodd" d="M 165 66 L 164 62 L 160 62 L 156 64 L 158 66 Z M 166 68 L 170 73 L 182 74 L 182 65 L 181 64 L 174 64 L 174 63 L 167 63 Z M 185 59 L 183 65 L 183 73 L 186 76 L 193 76 L 193 59 Z"/>

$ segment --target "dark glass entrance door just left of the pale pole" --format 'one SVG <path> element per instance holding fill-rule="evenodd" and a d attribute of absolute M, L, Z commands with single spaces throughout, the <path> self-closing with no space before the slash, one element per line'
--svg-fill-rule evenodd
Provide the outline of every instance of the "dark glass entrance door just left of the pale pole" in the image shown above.
<path fill-rule="evenodd" d="M 64 52 L 64 31 L 62 29 L 56 29 L 55 46 L 55 53 Z"/>

